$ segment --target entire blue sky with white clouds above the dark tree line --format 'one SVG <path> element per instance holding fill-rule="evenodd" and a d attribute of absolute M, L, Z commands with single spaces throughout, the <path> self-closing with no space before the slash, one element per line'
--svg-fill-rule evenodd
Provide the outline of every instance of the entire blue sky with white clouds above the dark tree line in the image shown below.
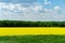
<path fill-rule="evenodd" d="M 65 22 L 65 0 L 0 0 L 0 20 Z"/>

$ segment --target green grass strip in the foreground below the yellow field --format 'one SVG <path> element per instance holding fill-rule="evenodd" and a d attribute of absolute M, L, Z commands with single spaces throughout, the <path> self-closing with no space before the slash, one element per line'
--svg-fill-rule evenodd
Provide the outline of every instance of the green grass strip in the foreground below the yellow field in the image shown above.
<path fill-rule="evenodd" d="M 0 43 L 65 43 L 65 35 L 0 37 Z"/>

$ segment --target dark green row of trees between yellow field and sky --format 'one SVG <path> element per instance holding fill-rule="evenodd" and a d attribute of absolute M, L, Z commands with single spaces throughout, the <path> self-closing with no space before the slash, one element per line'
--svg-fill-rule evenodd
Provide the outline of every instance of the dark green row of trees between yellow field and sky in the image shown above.
<path fill-rule="evenodd" d="M 65 22 L 0 20 L 0 27 L 65 27 Z"/>

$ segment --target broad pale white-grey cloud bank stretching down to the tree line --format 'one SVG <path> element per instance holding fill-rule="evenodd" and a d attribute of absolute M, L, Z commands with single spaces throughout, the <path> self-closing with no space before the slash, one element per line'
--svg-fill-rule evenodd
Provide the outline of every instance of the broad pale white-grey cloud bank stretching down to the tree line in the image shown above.
<path fill-rule="evenodd" d="M 0 11 L 1 19 L 10 20 L 40 20 L 40 22 L 50 22 L 50 20 L 65 20 L 65 16 L 58 15 L 54 11 L 60 11 L 61 8 L 55 5 L 54 10 L 44 9 L 43 5 L 30 5 L 28 8 L 23 6 L 22 4 L 13 3 L 0 3 L 0 9 L 6 9 L 5 11 Z M 39 12 L 39 11 L 42 11 Z"/>

